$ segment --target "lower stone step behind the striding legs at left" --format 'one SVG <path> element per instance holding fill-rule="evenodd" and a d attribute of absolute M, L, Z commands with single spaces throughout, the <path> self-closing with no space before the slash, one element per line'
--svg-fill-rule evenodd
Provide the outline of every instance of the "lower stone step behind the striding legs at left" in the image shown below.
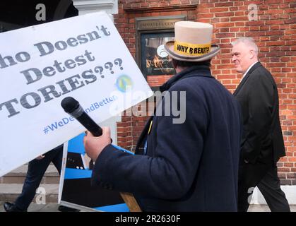
<path fill-rule="evenodd" d="M 59 184 L 40 184 L 41 191 L 45 191 L 45 204 L 57 203 L 59 196 Z M 15 201 L 23 189 L 23 184 L 0 184 L 0 201 Z M 36 194 L 32 203 L 36 203 Z M 44 200 L 44 199 L 41 199 Z"/>

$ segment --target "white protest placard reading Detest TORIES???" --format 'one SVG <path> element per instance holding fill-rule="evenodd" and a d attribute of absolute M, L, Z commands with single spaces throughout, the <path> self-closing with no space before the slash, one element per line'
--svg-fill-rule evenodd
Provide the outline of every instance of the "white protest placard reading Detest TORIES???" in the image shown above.
<path fill-rule="evenodd" d="M 1 33 L 0 79 L 0 176 L 85 130 L 64 97 L 100 123 L 152 95 L 107 13 Z"/>

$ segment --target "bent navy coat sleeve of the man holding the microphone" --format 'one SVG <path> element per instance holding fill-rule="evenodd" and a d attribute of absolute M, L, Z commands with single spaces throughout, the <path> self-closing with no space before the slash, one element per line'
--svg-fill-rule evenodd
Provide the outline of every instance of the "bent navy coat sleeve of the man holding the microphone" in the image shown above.
<path fill-rule="evenodd" d="M 206 107 L 201 102 L 203 94 L 195 89 L 187 90 L 187 85 L 182 86 L 181 82 L 173 86 L 172 90 L 187 90 L 186 103 L 178 101 L 186 107 L 186 120 L 181 124 L 173 124 L 172 116 L 153 120 L 157 124 L 153 130 L 157 134 L 154 157 L 129 155 L 108 145 L 95 162 L 95 183 L 141 196 L 167 199 L 184 196 L 199 167 L 208 121 Z M 164 108 L 163 104 L 162 112 Z"/>

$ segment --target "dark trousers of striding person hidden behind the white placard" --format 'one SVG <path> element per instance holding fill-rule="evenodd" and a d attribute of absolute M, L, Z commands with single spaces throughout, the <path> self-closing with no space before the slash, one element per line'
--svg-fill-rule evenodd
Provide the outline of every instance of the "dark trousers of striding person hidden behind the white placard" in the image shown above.
<path fill-rule="evenodd" d="M 42 160 L 32 160 L 29 162 L 22 193 L 18 196 L 18 198 L 16 198 L 16 207 L 21 210 L 27 210 L 50 162 L 54 163 L 54 166 L 59 171 L 59 174 L 61 173 L 62 157 L 63 145 L 59 145 L 59 147 L 45 153 L 45 157 Z"/>

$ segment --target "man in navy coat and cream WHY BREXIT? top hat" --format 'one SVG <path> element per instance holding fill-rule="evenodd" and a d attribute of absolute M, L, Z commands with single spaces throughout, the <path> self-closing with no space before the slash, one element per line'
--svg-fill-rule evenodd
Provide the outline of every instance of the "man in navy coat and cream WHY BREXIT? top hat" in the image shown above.
<path fill-rule="evenodd" d="M 108 128 L 100 137 L 85 136 L 86 153 L 95 161 L 93 182 L 134 194 L 143 211 L 237 211 L 239 105 L 211 76 L 211 58 L 219 51 L 211 44 L 213 26 L 182 21 L 174 31 L 165 50 L 177 74 L 160 88 L 167 93 L 143 129 L 136 155 L 114 148 Z M 176 107 L 183 118 L 173 114 Z"/>

